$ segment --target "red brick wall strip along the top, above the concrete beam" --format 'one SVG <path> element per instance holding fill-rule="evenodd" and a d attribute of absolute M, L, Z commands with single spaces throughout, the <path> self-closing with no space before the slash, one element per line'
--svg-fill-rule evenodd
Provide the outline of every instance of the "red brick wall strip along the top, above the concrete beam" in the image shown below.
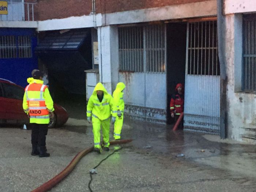
<path fill-rule="evenodd" d="M 207 0 L 95 0 L 97 13 L 139 10 L 167 5 L 178 5 Z M 70 16 L 89 15 L 91 0 L 38 0 L 38 20 L 61 19 Z"/>

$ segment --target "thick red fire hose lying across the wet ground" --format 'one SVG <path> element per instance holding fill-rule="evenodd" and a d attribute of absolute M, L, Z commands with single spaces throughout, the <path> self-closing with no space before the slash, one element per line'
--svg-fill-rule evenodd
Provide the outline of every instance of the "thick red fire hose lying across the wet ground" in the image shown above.
<path fill-rule="evenodd" d="M 117 140 L 117 141 L 112 141 L 110 142 L 110 145 L 115 145 L 115 144 L 123 144 L 123 143 L 129 143 L 131 142 L 131 139 L 127 140 Z M 89 147 L 78 153 L 74 159 L 69 163 L 69 165 L 59 174 L 57 174 L 55 177 L 50 179 L 49 181 L 45 182 L 42 184 L 40 187 L 34 189 L 32 192 L 46 192 L 49 191 L 51 188 L 53 188 L 55 185 L 57 185 L 61 180 L 63 180 L 66 176 L 68 176 L 69 173 L 74 169 L 76 164 L 79 162 L 79 160 L 86 154 L 90 153 L 93 151 L 94 147 Z"/>

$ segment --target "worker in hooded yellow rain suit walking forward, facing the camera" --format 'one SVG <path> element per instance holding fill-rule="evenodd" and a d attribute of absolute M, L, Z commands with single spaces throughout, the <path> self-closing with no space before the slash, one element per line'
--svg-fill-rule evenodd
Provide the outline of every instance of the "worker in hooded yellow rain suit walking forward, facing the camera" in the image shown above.
<path fill-rule="evenodd" d="M 101 125 L 103 134 L 103 149 L 109 151 L 109 128 L 111 110 L 116 108 L 113 105 L 113 98 L 106 91 L 105 87 L 101 83 L 97 83 L 93 94 L 91 95 L 87 104 L 87 121 L 93 122 L 93 135 L 94 135 L 94 151 L 101 153 Z M 91 119 L 92 118 L 92 119 Z M 116 113 L 112 114 L 111 123 L 116 121 Z"/>

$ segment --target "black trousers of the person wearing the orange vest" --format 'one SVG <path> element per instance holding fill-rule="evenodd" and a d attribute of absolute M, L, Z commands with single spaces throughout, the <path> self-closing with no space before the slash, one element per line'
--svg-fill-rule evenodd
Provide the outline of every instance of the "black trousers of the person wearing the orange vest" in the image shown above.
<path fill-rule="evenodd" d="M 31 123 L 31 143 L 32 146 L 43 147 L 46 145 L 46 135 L 48 132 L 48 124 Z"/>

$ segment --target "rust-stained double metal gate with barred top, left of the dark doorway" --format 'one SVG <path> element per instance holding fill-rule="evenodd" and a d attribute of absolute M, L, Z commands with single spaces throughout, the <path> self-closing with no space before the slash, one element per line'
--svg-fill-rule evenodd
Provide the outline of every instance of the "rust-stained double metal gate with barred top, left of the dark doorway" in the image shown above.
<path fill-rule="evenodd" d="M 135 119 L 166 121 L 166 27 L 120 27 L 119 81 L 125 113 Z"/>

